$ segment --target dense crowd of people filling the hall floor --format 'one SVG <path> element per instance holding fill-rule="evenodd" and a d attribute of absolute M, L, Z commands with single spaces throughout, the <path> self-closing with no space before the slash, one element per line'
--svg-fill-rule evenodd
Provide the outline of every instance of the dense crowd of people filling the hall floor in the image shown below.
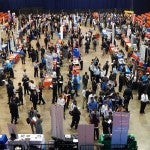
<path fill-rule="evenodd" d="M 72 116 L 70 127 L 77 129 L 80 116 L 83 115 L 78 106 L 77 99 L 79 97 L 83 101 L 82 109 L 86 108 L 87 113 L 89 113 L 89 122 L 94 124 L 95 139 L 99 139 L 100 120 L 102 120 L 103 133 L 111 134 L 113 112 L 129 112 L 129 102 L 133 99 L 132 90 L 134 78 L 131 76 L 131 78 L 127 80 L 125 69 L 122 69 L 119 73 L 118 59 L 112 54 L 112 63 L 106 60 L 104 65 L 102 65 L 99 56 L 93 58 L 89 65 L 89 71 L 82 75 L 82 83 L 80 83 L 77 79 L 77 75 L 72 74 L 74 67 L 73 48 L 84 49 L 84 52 L 78 57 L 80 70 L 82 71 L 84 70 L 83 56 L 90 54 L 91 49 L 93 49 L 93 51 L 101 51 L 102 49 L 106 55 L 109 55 L 108 52 L 112 37 L 102 37 L 101 48 L 98 49 L 99 42 L 93 35 L 94 30 L 101 33 L 103 28 L 112 28 L 111 22 L 114 22 L 115 26 L 130 24 L 131 32 L 135 32 L 137 38 L 140 39 L 140 35 L 143 35 L 142 27 L 138 23 L 133 23 L 129 16 L 126 17 L 118 13 L 103 13 L 99 14 L 98 18 L 94 17 L 92 13 L 81 13 L 78 14 L 78 16 L 76 15 L 75 18 L 74 15 L 67 13 L 30 15 L 30 17 L 33 22 L 28 28 L 23 29 L 19 35 L 20 41 L 26 37 L 26 43 L 23 44 L 21 48 L 21 62 L 27 66 L 28 62 L 26 61 L 26 57 L 29 57 L 33 63 L 33 77 L 35 79 L 39 77 L 41 82 L 36 85 L 28 76 L 26 70 L 24 70 L 22 80 L 18 82 L 18 87 L 16 88 L 11 79 L 15 77 L 13 67 L 7 66 L 4 68 L 11 123 L 18 123 L 17 120 L 21 117 L 19 116 L 18 107 L 24 105 L 24 96 L 30 95 L 30 101 L 33 106 L 31 110 L 29 110 L 27 122 L 31 125 L 32 133 L 43 133 L 42 119 L 37 110 L 37 105 L 41 103 L 43 105 L 46 104 L 43 98 L 43 80 L 45 75 L 50 71 L 52 75 L 52 97 L 49 99 L 52 104 L 56 103 L 64 108 L 64 119 L 66 118 L 65 110 L 69 108 L 69 114 Z M 19 21 L 19 25 L 23 27 L 29 21 L 29 18 L 26 15 L 21 15 Z M 60 27 L 63 21 L 65 21 L 64 41 L 61 40 L 60 42 L 56 40 L 57 42 L 54 44 L 51 41 L 55 39 L 55 33 L 60 33 Z M 103 22 L 103 26 L 101 22 Z M 84 34 L 81 27 L 90 28 L 90 30 Z M 10 29 L 7 31 L 8 38 L 10 34 L 12 34 L 12 30 L 10 23 Z M 44 35 L 44 39 L 41 38 L 42 35 Z M 58 39 L 60 39 L 60 37 L 58 37 Z M 36 48 L 32 45 L 33 40 L 36 41 Z M 45 45 L 40 44 L 42 40 Z M 137 47 L 139 42 L 140 41 L 137 42 Z M 119 49 L 119 51 L 125 55 L 122 49 Z M 10 53 L 13 52 L 10 50 Z M 46 53 L 50 53 L 51 55 L 55 53 L 57 55 L 56 66 L 47 64 Z M 99 54 L 100 53 L 101 52 L 99 52 Z M 5 59 L 7 58 L 3 57 L 4 61 Z M 69 64 L 68 74 L 66 75 L 62 73 L 64 59 L 67 59 L 66 61 Z M 134 71 L 133 68 L 132 65 L 130 67 L 131 72 Z M 119 76 L 119 80 L 117 76 Z M 68 78 L 67 83 L 64 82 L 65 78 Z M 79 90 L 80 84 L 82 90 Z M 145 113 L 146 104 L 149 102 L 149 84 L 148 75 L 146 81 L 142 78 L 138 79 L 138 95 L 139 100 L 141 100 L 140 113 L 142 114 Z M 123 95 L 120 92 L 123 92 Z M 82 93 L 83 97 L 79 93 Z M 34 128 L 36 130 L 34 130 Z"/>

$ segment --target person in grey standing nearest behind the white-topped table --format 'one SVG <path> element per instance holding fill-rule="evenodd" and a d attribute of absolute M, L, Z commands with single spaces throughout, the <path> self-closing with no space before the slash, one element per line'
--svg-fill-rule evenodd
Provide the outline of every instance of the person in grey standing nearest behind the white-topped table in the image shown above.
<path fill-rule="evenodd" d="M 43 122 L 43 120 L 41 119 L 41 115 L 37 114 L 37 120 L 35 122 L 35 133 L 36 134 L 43 134 L 42 122 Z"/>

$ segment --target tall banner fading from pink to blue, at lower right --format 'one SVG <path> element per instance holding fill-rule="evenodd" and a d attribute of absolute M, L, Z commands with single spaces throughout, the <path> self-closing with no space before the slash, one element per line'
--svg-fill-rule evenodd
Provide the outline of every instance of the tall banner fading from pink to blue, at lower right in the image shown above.
<path fill-rule="evenodd" d="M 126 145 L 129 130 L 130 113 L 115 112 L 113 113 L 113 128 L 111 145 Z"/>

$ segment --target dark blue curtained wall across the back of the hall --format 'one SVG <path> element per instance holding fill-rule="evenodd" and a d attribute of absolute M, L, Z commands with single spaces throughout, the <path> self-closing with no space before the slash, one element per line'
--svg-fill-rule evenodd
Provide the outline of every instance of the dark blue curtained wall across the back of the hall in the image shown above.
<path fill-rule="evenodd" d="M 0 0 L 0 10 L 38 7 L 46 10 L 133 9 L 137 13 L 150 10 L 149 0 Z"/>

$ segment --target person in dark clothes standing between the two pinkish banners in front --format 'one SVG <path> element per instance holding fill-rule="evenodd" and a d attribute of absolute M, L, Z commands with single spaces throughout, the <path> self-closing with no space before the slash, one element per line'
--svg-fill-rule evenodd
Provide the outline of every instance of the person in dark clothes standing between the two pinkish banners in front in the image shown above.
<path fill-rule="evenodd" d="M 71 123 L 70 127 L 73 128 L 75 126 L 75 129 L 77 129 L 79 121 L 80 121 L 80 115 L 81 115 L 77 106 L 74 107 L 71 115 L 72 115 L 72 123 Z"/>

